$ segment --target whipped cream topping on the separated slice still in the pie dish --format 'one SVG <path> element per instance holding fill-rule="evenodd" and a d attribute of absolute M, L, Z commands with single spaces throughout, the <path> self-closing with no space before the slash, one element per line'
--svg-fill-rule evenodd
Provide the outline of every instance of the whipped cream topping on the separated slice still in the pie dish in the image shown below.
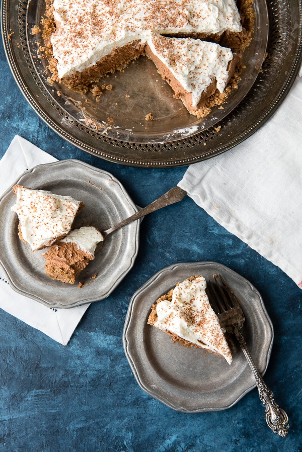
<path fill-rule="evenodd" d="M 194 108 L 213 80 L 223 93 L 229 79 L 228 65 L 233 59 L 231 49 L 200 39 L 166 38 L 155 33 L 147 43 L 185 90 L 192 93 Z"/>

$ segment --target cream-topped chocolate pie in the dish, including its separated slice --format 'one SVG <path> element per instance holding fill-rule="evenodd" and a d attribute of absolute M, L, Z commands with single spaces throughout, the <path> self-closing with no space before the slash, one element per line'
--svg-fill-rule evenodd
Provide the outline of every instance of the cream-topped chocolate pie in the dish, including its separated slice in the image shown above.
<path fill-rule="evenodd" d="M 95 90 L 102 76 L 147 55 L 197 117 L 239 80 L 253 31 L 251 0 L 46 0 L 52 80 Z"/>

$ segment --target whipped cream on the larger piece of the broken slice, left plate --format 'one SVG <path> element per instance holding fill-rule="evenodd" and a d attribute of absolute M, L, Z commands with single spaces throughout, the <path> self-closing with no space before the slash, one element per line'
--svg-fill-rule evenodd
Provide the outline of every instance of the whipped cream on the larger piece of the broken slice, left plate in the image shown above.
<path fill-rule="evenodd" d="M 67 234 L 81 204 L 71 196 L 21 186 L 17 187 L 16 196 L 11 210 L 17 213 L 22 237 L 33 251 Z"/>

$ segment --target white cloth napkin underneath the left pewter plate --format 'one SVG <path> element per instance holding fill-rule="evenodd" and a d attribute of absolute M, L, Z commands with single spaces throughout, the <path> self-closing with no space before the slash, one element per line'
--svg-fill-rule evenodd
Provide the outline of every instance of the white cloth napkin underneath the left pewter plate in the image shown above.
<path fill-rule="evenodd" d="M 0 195 L 14 184 L 24 171 L 54 161 L 56 158 L 16 135 L 0 160 Z M 48 308 L 11 289 L 0 267 L 0 308 L 63 345 L 68 343 L 88 306 L 89 304 L 70 309 Z"/>

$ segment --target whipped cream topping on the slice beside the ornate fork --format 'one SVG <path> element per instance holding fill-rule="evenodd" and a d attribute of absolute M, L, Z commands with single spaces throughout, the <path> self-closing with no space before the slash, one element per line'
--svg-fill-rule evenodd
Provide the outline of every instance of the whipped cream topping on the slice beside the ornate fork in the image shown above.
<path fill-rule="evenodd" d="M 216 352 L 231 364 L 229 345 L 209 304 L 205 288 L 202 276 L 180 283 L 173 290 L 172 301 L 163 300 L 157 304 L 158 319 L 154 326 Z"/>

